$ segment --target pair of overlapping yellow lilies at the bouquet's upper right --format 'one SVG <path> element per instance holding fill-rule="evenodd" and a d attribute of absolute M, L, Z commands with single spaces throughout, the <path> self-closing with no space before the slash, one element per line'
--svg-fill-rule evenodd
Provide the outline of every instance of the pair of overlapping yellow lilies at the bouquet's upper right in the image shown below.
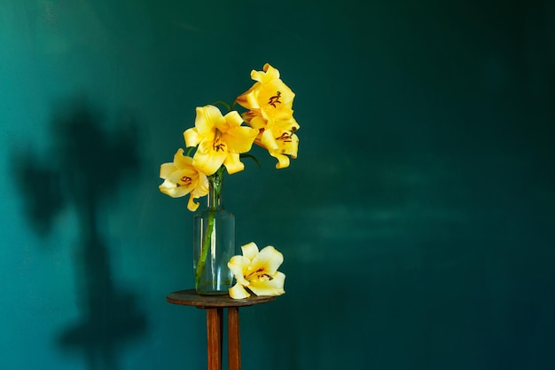
<path fill-rule="evenodd" d="M 252 71 L 256 83 L 236 101 L 249 109 L 243 114 L 245 121 L 260 132 L 255 144 L 277 158 L 277 169 L 289 167 L 289 158 L 297 158 L 299 138 L 294 134 L 299 123 L 293 118 L 295 94 L 279 79 L 279 71 L 266 63 L 262 71 Z"/>

